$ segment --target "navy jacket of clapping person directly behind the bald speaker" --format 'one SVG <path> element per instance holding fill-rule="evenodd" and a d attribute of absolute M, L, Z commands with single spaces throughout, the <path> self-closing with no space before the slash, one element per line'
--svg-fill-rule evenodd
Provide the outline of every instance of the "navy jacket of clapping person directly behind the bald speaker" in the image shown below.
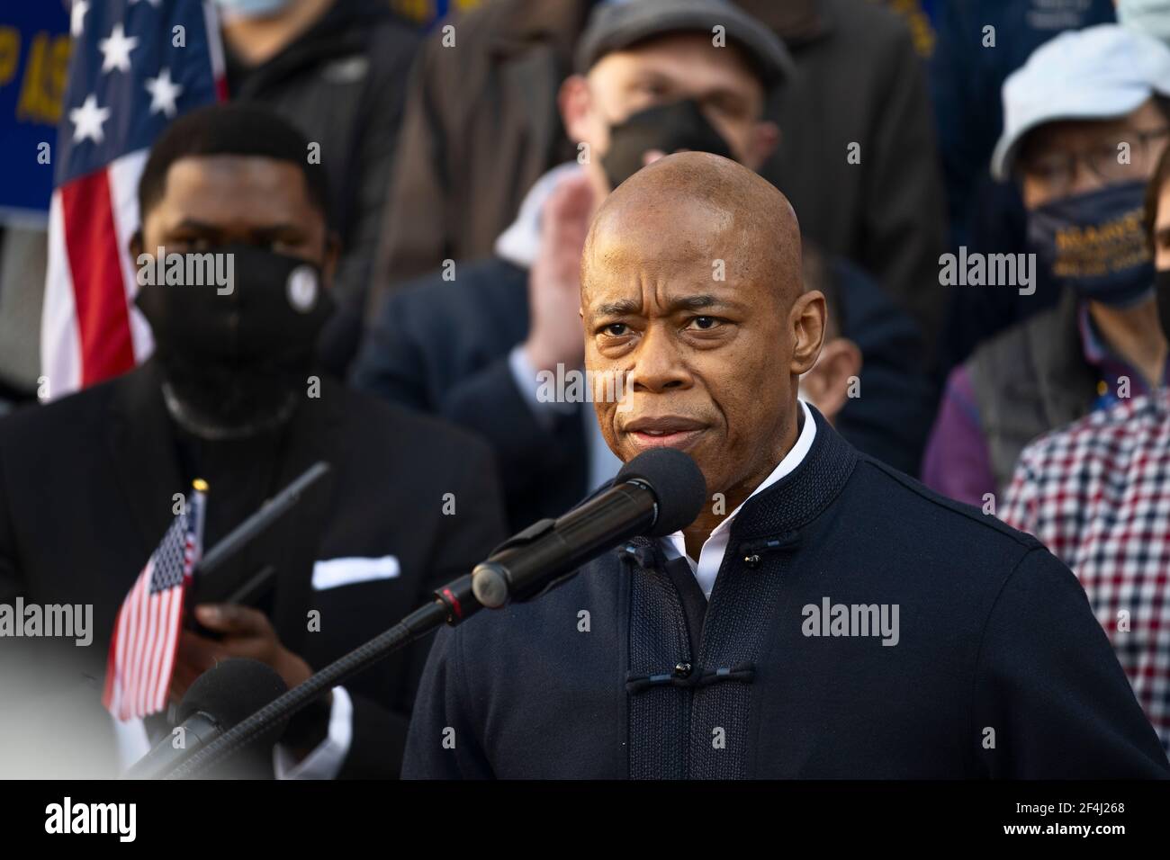
<path fill-rule="evenodd" d="M 934 419 L 910 317 L 860 269 L 831 263 L 842 333 L 863 356 L 861 397 L 837 426 L 853 445 L 915 474 Z M 558 516 L 587 491 L 587 440 L 579 410 L 542 426 L 516 387 L 508 353 L 528 336 L 528 269 L 498 257 L 462 263 L 383 303 L 359 353 L 353 384 L 391 403 L 441 415 L 495 449 L 514 529 Z"/>

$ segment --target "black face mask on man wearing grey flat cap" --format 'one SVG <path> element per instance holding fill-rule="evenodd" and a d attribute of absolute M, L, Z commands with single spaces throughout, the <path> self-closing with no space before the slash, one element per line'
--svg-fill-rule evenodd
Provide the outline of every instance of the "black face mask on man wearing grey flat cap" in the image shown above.
<path fill-rule="evenodd" d="M 610 150 L 601 157 L 601 166 L 611 190 L 642 168 L 642 157 L 649 150 L 666 154 L 694 150 L 734 158 L 728 142 L 707 121 L 695 99 L 656 104 L 610 129 Z"/>

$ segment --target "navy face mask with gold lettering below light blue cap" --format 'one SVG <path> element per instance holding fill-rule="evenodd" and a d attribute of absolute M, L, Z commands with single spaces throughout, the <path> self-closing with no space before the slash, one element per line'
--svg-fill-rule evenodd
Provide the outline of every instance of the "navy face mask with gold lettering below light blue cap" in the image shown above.
<path fill-rule="evenodd" d="M 1141 304 L 1154 285 L 1144 195 L 1144 183 L 1126 183 L 1045 204 L 1028 213 L 1028 246 L 1082 297 L 1114 308 Z"/>

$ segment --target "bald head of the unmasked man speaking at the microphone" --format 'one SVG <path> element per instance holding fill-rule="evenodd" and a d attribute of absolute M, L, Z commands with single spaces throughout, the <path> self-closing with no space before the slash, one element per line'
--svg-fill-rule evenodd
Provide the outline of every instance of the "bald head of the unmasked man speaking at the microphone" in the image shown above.
<path fill-rule="evenodd" d="M 796 441 L 825 297 L 804 291 L 789 201 L 746 167 L 680 152 L 622 183 L 585 242 L 581 318 L 586 367 L 625 380 L 594 401 L 622 460 L 686 450 L 731 510 Z"/>

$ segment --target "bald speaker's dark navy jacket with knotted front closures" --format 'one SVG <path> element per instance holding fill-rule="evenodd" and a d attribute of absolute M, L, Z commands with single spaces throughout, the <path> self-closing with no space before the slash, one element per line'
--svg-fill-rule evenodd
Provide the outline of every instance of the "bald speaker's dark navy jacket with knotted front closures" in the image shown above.
<path fill-rule="evenodd" d="M 1165 777 L 1073 573 L 814 415 L 805 460 L 734 521 L 709 604 L 638 538 L 441 631 L 402 776 Z M 825 601 L 899 607 L 896 644 L 824 635 Z"/>

